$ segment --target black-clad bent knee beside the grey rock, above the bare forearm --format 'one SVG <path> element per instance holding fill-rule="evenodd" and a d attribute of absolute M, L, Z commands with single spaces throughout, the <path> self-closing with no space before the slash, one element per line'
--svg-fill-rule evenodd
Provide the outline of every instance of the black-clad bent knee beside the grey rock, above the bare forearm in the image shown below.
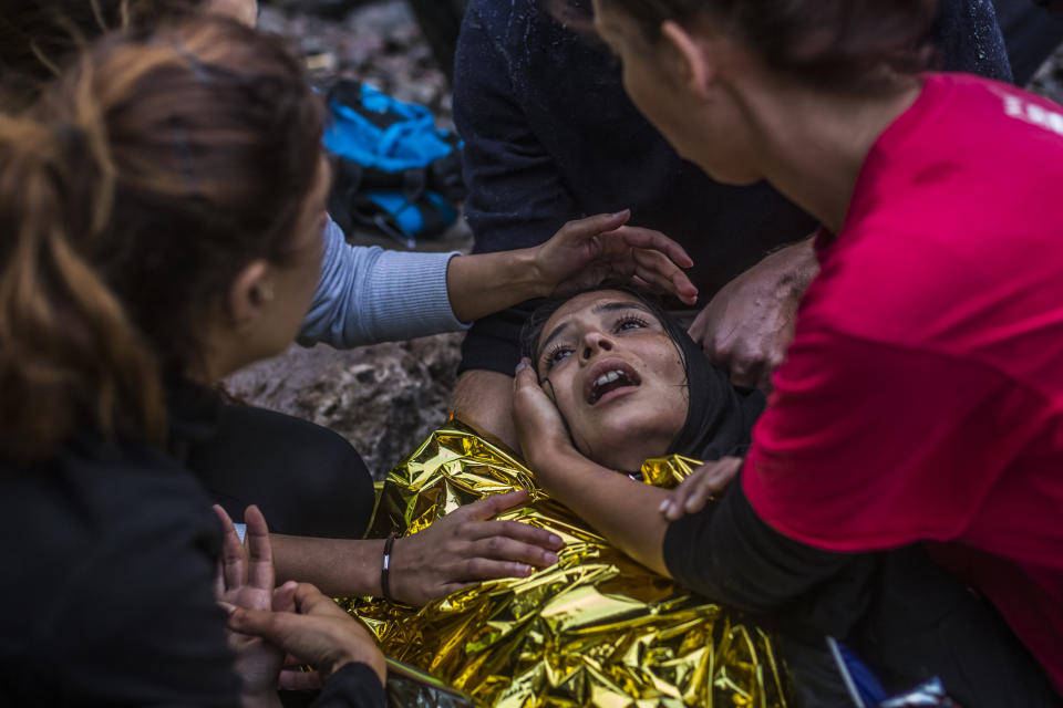
<path fill-rule="evenodd" d="M 275 533 L 360 539 L 369 528 L 369 470 L 350 442 L 319 425 L 227 405 L 217 434 L 192 446 L 187 464 L 238 523 L 257 504 Z"/>

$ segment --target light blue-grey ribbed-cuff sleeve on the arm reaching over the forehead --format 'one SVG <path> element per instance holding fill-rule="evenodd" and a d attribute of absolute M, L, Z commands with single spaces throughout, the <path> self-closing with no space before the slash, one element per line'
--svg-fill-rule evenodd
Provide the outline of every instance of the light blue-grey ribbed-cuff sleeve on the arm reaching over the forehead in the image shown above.
<path fill-rule="evenodd" d="M 351 348 L 465 329 L 446 291 L 446 267 L 457 254 L 350 246 L 330 219 L 321 280 L 299 343 Z"/>

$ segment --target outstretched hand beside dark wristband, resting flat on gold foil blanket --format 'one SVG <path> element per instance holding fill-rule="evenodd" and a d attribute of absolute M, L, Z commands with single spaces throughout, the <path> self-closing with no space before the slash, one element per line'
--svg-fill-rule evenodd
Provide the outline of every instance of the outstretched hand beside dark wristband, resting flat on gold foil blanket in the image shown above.
<path fill-rule="evenodd" d="M 564 544 L 559 537 L 519 521 L 491 520 L 527 502 L 523 491 L 492 494 L 398 539 L 391 555 L 392 596 L 420 606 L 475 582 L 525 577 L 556 563 Z"/>

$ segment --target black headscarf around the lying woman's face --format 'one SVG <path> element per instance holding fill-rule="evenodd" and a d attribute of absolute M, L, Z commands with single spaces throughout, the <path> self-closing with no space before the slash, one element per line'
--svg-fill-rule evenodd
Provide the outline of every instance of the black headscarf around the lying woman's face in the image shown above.
<path fill-rule="evenodd" d="M 704 462 L 729 455 L 742 456 L 750 447 L 753 424 L 764 410 L 766 399 L 758 391 L 736 388 L 727 374 L 709 364 L 679 320 L 652 294 L 621 283 L 603 283 L 584 292 L 617 290 L 641 301 L 657 316 L 675 347 L 687 372 L 690 408 L 683 428 L 672 440 L 668 454 L 684 455 Z M 582 294 L 582 293 L 576 293 Z M 522 333 L 524 356 L 536 358 L 543 327 L 557 310 L 575 298 L 554 299 L 538 308 L 525 323 Z"/>

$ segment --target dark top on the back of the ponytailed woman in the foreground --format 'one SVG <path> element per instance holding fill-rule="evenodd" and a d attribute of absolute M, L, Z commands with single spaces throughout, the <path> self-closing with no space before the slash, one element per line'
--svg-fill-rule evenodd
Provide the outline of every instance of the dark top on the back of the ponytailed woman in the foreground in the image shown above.
<path fill-rule="evenodd" d="M 56 700 L 235 699 L 211 582 L 218 530 L 192 476 L 146 448 L 73 446 L 11 468 L 3 663 Z M 9 654 L 10 652 L 10 654 Z M 37 685 L 38 688 L 33 688 Z"/>

